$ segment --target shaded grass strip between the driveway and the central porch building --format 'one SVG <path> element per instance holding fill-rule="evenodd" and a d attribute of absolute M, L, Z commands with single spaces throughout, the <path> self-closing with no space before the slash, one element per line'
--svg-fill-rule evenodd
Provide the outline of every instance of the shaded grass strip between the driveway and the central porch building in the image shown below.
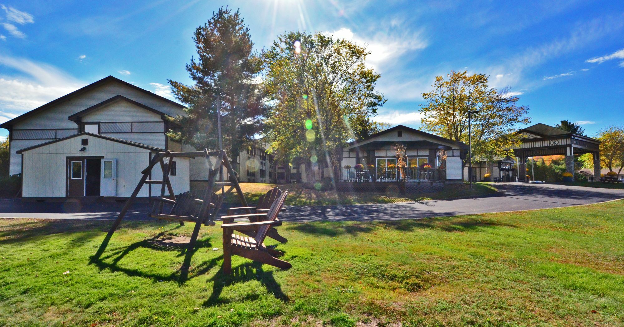
<path fill-rule="evenodd" d="M 335 192 L 318 191 L 303 188 L 300 183 L 295 184 L 267 184 L 267 183 L 241 183 L 245 198 L 250 203 L 256 203 L 258 197 L 273 187 L 288 190 L 286 205 L 338 205 L 338 204 L 363 204 L 363 203 L 399 203 L 421 200 L 442 200 L 446 198 L 472 197 L 497 192 L 494 185 L 487 183 L 473 183 L 472 190 L 468 184 L 444 185 L 436 192 L 406 193 L 398 192 Z M 230 197 L 230 203 L 238 203 L 238 198 Z"/>

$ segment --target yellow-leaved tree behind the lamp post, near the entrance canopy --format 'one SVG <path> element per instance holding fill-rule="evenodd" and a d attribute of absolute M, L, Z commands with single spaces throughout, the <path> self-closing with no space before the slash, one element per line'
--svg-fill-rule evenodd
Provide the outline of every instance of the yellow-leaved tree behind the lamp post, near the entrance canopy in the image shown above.
<path fill-rule="evenodd" d="M 520 98 L 509 89 L 489 88 L 484 74 L 451 71 L 446 77 L 437 76 L 433 90 L 422 94 L 427 102 L 420 109 L 422 129 L 467 144 L 468 113 L 473 112 L 472 157 L 492 160 L 511 154 L 521 142 L 518 126 L 530 122 L 529 107 L 518 105 Z"/>

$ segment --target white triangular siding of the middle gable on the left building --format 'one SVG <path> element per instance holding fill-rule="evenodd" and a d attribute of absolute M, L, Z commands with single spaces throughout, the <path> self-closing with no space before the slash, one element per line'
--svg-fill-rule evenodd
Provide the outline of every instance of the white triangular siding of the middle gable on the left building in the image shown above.
<path fill-rule="evenodd" d="M 138 102 L 138 101 L 137 101 Z M 146 104 L 147 105 L 147 104 Z M 160 108 L 154 108 L 160 110 Z M 83 122 L 162 122 L 160 115 L 119 100 L 82 117 Z"/>

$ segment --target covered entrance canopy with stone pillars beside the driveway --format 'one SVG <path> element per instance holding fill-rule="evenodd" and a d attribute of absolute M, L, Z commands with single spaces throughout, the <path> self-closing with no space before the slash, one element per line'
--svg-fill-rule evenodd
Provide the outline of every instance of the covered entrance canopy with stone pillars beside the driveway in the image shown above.
<path fill-rule="evenodd" d="M 525 160 L 528 157 L 564 155 L 565 171 L 573 174 L 574 156 L 590 153 L 593 154 L 594 173 L 600 176 L 599 140 L 545 124 L 535 124 L 518 132 L 522 136 L 522 144 L 514 148 L 514 155 L 520 158 L 522 172 L 526 172 Z M 522 178 L 523 176 L 519 176 L 520 180 Z"/>

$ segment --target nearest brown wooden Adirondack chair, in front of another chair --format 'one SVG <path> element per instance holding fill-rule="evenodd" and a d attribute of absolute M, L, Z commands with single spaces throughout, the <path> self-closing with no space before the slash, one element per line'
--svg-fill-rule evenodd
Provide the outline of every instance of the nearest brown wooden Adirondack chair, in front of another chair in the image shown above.
<path fill-rule="evenodd" d="M 284 205 L 286 195 L 288 195 L 288 191 L 281 193 L 267 213 L 247 213 L 245 215 L 222 217 L 227 219 L 250 216 L 258 218 L 256 222 L 224 223 L 221 225 L 221 228 L 223 228 L 223 273 L 232 273 L 233 255 L 242 256 L 243 258 L 266 263 L 281 269 L 288 269 L 292 266 L 290 263 L 277 258 L 277 256 L 283 255 L 281 251 L 267 248 L 263 243 L 266 233 L 277 221 L 278 213 L 280 213 L 281 207 Z M 235 234 L 235 230 L 253 231 L 256 235 L 255 237 L 245 237 Z"/>

